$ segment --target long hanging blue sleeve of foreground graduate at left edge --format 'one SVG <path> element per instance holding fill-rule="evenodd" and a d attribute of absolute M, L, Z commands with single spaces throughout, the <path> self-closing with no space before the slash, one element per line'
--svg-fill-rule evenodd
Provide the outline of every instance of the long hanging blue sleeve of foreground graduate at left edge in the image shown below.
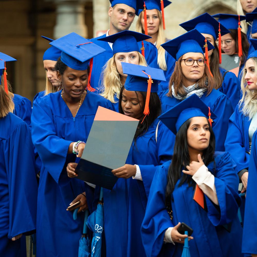
<path fill-rule="evenodd" d="M 9 191 L 8 238 L 36 229 L 38 185 L 31 133 L 19 124 L 5 140 L 4 162 Z"/>

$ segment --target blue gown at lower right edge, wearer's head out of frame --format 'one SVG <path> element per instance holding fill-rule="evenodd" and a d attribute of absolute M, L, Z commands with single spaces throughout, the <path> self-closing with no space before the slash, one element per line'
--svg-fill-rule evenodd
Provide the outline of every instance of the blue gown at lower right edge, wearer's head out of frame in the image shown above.
<path fill-rule="evenodd" d="M 243 253 L 257 254 L 257 133 L 253 134 L 252 151 L 249 162 L 249 176 L 247 183 L 247 194 L 245 201 L 244 231 L 243 231 Z"/>

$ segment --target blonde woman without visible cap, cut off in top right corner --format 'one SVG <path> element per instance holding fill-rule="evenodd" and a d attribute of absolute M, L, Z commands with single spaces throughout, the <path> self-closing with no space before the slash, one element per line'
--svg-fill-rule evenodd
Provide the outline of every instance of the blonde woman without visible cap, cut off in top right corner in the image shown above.
<path fill-rule="evenodd" d="M 237 0 L 237 14 L 245 15 L 251 13 L 257 7 L 256 0 Z M 251 25 L 245 21 L 241 22 L 242 32 L 247 35 L 247 39 L 251 38 Z"/>

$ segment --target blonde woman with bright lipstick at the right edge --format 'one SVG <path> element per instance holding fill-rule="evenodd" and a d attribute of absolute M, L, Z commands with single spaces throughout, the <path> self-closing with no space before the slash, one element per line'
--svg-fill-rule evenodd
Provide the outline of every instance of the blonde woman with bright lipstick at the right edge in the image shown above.
<path fill-rule="evenodd" d="M 242 98 L 229 120 L 225 150 L 237 164 L 237 174 L 246 189 L 252 136 L 257 127 L 257 51 L 245 62 L 241 90 Z"/>

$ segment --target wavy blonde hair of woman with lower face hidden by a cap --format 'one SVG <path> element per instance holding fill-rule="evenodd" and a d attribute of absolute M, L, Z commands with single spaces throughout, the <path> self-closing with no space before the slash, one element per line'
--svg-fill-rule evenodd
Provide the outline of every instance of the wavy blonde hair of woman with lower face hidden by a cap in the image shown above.
<path fill-rule="evenodd" d="M 115 55 L 109 59 L 105 66 L 103 67 L 102 72 L 102 84 L 100 87 L 100 95 L 105 97 L 106 99 L 110 100 L 112 103 L 116 103 L 114 100 L 114 96 L 116 95 L 117 98 L 120 98 L 120 91 L 122 88 L 121 83 L 121 75 L 117 70 L 116 63 L 115 63 Z M 140 52 L 139 55 L 139 65 L 147 66 L 145 58 L 142 56 Z"/>

